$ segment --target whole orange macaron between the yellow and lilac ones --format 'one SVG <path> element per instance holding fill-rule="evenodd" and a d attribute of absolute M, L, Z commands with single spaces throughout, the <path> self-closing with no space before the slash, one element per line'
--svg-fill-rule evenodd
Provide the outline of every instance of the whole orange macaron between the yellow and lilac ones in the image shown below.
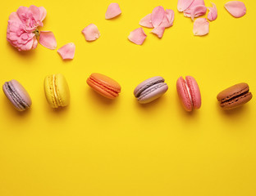
<path fill-rule="evenodd" d="M 107 99 L 115 99 L 121 92 L 120 84 L 101 73 L 92 73 L 86 81 L 98 94 Z"/>

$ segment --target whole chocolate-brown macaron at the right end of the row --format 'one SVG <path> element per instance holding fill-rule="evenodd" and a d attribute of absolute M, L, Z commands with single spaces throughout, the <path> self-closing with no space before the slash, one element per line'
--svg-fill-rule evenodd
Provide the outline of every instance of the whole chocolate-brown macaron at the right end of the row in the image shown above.
<path fill-rule="evenodd" d="M 217 94 L 217 100 L 220 102 L 222 109 L 237 108 L 252 98 L 253 95 L 249 91 L 249 85 L 245 82 L 235 84 Z"/>

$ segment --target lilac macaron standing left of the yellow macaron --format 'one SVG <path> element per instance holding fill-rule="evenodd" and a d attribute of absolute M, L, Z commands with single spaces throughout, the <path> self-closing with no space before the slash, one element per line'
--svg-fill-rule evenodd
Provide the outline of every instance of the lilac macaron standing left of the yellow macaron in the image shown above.
<path fill-rule="evenodd" d="M 25 88 L 22 87 L 20 82 L 14 79 L 5 82 L 2 85 L 2 90 L 18 111 L 25 111 L 25 109 L 29 109 L 32 105 L 29 93 L 25 91 Z"/>

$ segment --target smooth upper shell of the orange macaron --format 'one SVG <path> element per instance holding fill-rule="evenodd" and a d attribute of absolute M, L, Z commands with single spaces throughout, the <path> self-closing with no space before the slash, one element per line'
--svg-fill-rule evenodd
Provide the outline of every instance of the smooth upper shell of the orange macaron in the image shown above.
<path fill-rule="evenodd" d="M 92 73 L 89 78 L 94 79 L 94 81 L 98 82 L 99 84 L 103 85 L 104 87 L 112 89 L 112 91 L 117 91 L 117 93 L 121 92 L 120 84 L 109 78 L 101 73 Z"/>

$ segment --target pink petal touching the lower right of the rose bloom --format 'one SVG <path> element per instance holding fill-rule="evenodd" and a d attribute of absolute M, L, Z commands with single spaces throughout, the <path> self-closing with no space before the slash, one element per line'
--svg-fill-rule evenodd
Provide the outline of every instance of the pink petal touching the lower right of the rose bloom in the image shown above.
<path fill-rule="evenodd" d="M 52 31 L 41 31 L 39 37 L 39 43 L 43 47 L 54 50 L 57 47 L 56 38 Z"/>

